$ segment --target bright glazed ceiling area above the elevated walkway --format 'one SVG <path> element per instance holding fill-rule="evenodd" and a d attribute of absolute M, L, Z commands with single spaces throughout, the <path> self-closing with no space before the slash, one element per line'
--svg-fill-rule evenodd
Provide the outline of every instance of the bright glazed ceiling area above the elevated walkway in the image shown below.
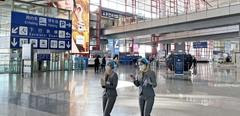
<path fill-rule="evenodd" d="M 213 9 L 239 4 L 239 0 L 101 0 L 101 6 L 132 13 L 145 18 L 159 18 L 177 14 Z M 100 5 L 100 0 L 91 0 L 91 8 Z"/>

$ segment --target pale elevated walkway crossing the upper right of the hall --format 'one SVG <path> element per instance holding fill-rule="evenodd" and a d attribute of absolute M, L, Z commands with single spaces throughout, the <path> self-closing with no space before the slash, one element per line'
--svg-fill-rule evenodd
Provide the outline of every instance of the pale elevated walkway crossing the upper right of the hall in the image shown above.
<path fill-rule="evenodd" d="M 108 28 L 105 36 L 124 38 L 131 36 L 165 34 L 240 24 L 240 5 L 212 9 L 193 14 L 155 19 L 137 24 Z"/>

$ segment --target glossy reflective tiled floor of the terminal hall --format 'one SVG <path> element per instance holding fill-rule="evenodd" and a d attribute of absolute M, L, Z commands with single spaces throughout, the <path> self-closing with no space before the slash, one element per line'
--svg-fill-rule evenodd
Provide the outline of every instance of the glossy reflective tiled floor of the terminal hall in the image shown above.
<path fill-rule="evenodd" d="M 134 67 L 121 66 L 112 116 L 140 116 L 137 88 L 128 81 Z M 167 79 L 157 70 L 152 116 L 239 116 L 240 70 L 199 64 L 191 80 Z M 102 116 L 101 73 L 48 72 L 33 78 L 0 75 L 0 116 Z"/>

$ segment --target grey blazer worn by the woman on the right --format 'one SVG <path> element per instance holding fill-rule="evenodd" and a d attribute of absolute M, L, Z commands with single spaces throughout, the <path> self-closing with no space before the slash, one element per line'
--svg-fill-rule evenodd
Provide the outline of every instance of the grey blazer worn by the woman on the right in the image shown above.
<path fill-rule="evenodd" d="M 155 96 L 154 89 L 157 87 L 156 74 L 149 70 L 143 73 L 143 77 L 137 77 L 134 84 L 139 87 L 139 95 L 144 97 Z"/>

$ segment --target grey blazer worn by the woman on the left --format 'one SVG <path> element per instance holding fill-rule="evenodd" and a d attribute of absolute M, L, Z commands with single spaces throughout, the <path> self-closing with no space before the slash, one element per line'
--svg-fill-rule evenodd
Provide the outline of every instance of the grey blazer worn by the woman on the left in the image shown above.
<path fill-rule="evenodd" d="M 103 96 L 107 97 L 116 97 L 117 94 L 117 84 L 118 84 L 118 75 L 117 73 L 113 72 L 111 77 L 107 77 L 104 88 Z"/>

